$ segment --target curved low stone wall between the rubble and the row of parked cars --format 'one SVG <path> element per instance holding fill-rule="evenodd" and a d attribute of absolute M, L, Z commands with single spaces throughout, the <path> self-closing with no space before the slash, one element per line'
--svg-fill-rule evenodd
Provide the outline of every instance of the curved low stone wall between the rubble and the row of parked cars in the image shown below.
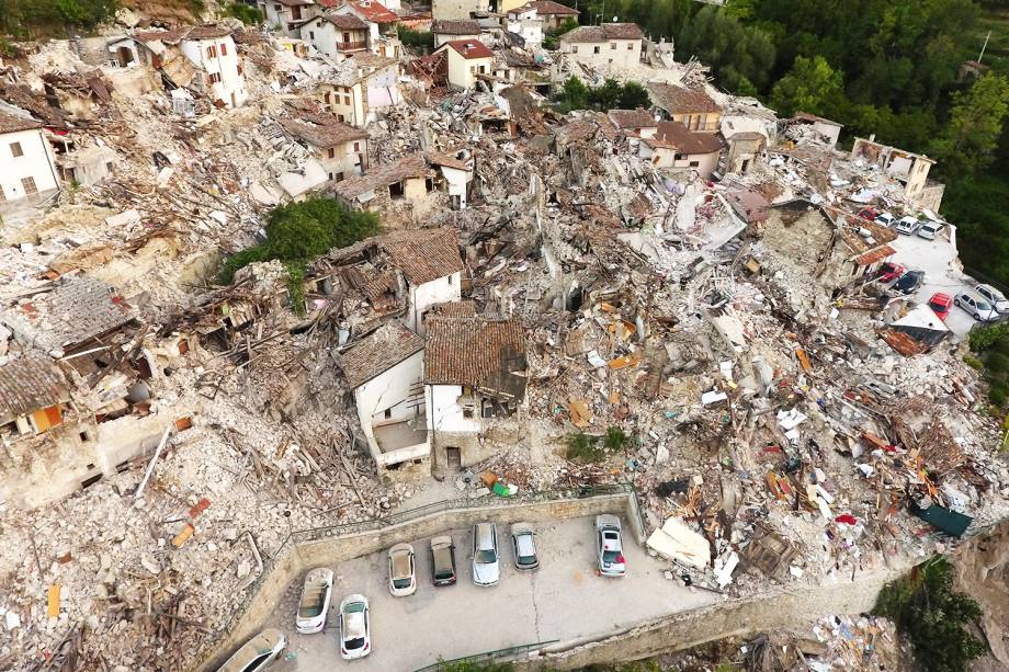
<path fill-rule="evenodd" d="M 265 570 L 267 574 L 259 584 L 252 604 L 231 625 L 229 631 L 223 635 L 223 639 L 216 642 L 202 662 L 195 665 L 195 669 L 216 670 L 217 665 L 223 663 L 238 646 L 262 629 L 267 618 L 277 608 L 291 584 L 313 567 L 343 562 L 388 548 L 399 542 L 430 538 L 446 529 L 471 527 L 488 520 L 508 525 L 523 521 L 538 523 L 600 513 L 619 513 L 626 522 L 632 523 L 635 531 L 639 524 L 634 524 L 630 520 L 636 515 L 636 509 L 633 508 L 633 494 L 630 492 L 549 501 L 523 502 L 494 499 L 489 502 L 497 502 L 497 504 L 488 503 L 484 506 L 434 511 L 381 529 L 333 536 L 285 548 Z M 636 520 L 639 521 L 639 519 Z"/>

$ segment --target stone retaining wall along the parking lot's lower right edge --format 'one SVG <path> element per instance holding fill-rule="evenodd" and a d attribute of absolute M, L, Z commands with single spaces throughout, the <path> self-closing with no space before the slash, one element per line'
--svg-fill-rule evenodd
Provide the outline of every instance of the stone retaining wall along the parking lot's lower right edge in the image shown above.
<path fill-rule="evenodd" d="M 875 605 L 880 590 L 904 576 L 911 566 L 908 561 L 857 577 L 854 581 L 825 582 L 805 590 L 781 589 L 671 614 L 594 640 L 560 642 L 515 661 L 515 669 L 574 670 L 640 660 L 726 637 L 789 628 L 827 614 L 868 612 Z"/>

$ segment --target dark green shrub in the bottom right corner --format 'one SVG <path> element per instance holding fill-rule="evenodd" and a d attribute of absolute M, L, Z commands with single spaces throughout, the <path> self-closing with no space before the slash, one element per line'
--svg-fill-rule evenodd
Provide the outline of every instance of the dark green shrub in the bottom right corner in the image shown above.
<path fill-rule="evenodd" d="M 964 625 L 982 616 L 974 599 L 953 590 L 953 566 L 944 556 L 888 583 L 876 599 L 875 614 L 886 616 L 910 639 L 923 669 L 962 672 L 987 647 Z"/>

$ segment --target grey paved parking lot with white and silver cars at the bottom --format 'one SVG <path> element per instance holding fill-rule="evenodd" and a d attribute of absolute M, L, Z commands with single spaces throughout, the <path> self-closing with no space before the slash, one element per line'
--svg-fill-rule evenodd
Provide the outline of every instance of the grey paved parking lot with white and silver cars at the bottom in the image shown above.
<path fill-rule="evenodd" d="M 409 672 L 444 659 L 511 646 L 559 639 L 569 641 L 602 635 L 665 614 L 715 602 L 717 595 L 691 592 L 662 576 L 666 565 L 649 558 L 624 531 L 627 576 L 606 579 L 594 571 L 592 517 L 534 525 L 540 569 L 514 568 L 507 525 L 498 526 L 501 580 L 492 588 L 472 581 L 472 531 L 451 532 L 455 543 L 458 581 L 431 585 L 430 539 L 403 539 L 417 554 L 417 592 L 393 597 L 388 592 L 385 553 L 333 566 L 336 580 L 326 628 L 297 635 L 294 617 L 301 585 L 288 590 L 268 627 L 287 634 L 287 657 L 277 671 L 333 668 Z M 362 593 L 370 602 L 372 654 L 343 661 L 339 653 L 339 603 Z M 271 668 L 273 669 L 273 668 Z"/>

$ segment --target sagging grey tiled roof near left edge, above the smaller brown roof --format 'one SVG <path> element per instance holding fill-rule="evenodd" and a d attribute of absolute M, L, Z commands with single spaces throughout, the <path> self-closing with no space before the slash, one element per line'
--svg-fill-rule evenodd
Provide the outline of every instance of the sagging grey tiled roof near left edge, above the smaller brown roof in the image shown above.
<path fill-rule="evenodd" d="M 64 281 L 53 292 L 0 312 L 0 322 L 46 352 L 83 343 L 133 318 L 133 308 L 122 296 L 87 276 Z"/>

